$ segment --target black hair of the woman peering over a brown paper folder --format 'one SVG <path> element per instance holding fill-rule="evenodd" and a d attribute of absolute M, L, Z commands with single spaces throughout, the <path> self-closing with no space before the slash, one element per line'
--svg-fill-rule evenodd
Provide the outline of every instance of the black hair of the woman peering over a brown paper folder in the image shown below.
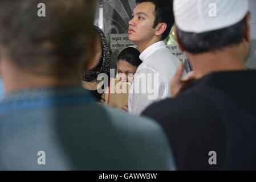
<path fill-rule="evenodd" d="M 139 65 L 142 63 L 140 60 L 140 52 L 133 47 L 123 49 L 117 56 L 117 62 L 119 60 L 127 61 L 136 67 L 139 67 Z"/>

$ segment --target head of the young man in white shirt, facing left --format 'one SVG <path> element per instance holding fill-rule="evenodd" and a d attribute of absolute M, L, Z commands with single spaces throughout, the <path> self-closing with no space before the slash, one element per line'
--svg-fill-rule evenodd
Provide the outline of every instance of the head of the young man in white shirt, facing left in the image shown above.
<path fill-rule="evenodd" d="M 164 40 L 174 24 L 172 1 L 136 0 L 133 18 L 129 21 L 129 40 L 143 42 L 157 36 Z"/>

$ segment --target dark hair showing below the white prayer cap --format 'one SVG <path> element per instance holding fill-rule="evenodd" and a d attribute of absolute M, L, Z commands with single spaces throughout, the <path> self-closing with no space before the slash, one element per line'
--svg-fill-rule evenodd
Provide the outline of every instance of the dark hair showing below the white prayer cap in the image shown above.
<path fill-rule="evenodd" d="M 241 43 L 245 35 L 245 22 L 246 18 L 243 18 L 233 26 L 200 34 L 184 32 L 177 27 L 177 36 L 184 49 L 190 53 L 216 51 Z"/>

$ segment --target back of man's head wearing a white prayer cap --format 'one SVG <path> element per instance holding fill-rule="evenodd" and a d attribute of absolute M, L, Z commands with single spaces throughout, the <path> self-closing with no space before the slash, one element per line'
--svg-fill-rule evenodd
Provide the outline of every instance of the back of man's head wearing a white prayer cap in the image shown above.
<path fill-rule="evenodd" d="M 176 36 L 184 51 L 200 54 L 243 44 L 241 55 L 244 58 L 248 55 L 250 28 L 247 1 L 174 0 L 173 6 Z"/>

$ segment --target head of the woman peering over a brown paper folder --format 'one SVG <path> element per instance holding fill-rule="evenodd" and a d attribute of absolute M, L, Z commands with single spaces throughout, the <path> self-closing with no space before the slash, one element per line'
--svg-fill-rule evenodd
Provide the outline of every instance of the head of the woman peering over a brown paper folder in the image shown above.
<path fill-rule="evenodd" d="M 123 49 L 117 56 L 117 78 L 132 83 L 137 68 L 142 63 L 140 52 L 133 47 Z"/>

